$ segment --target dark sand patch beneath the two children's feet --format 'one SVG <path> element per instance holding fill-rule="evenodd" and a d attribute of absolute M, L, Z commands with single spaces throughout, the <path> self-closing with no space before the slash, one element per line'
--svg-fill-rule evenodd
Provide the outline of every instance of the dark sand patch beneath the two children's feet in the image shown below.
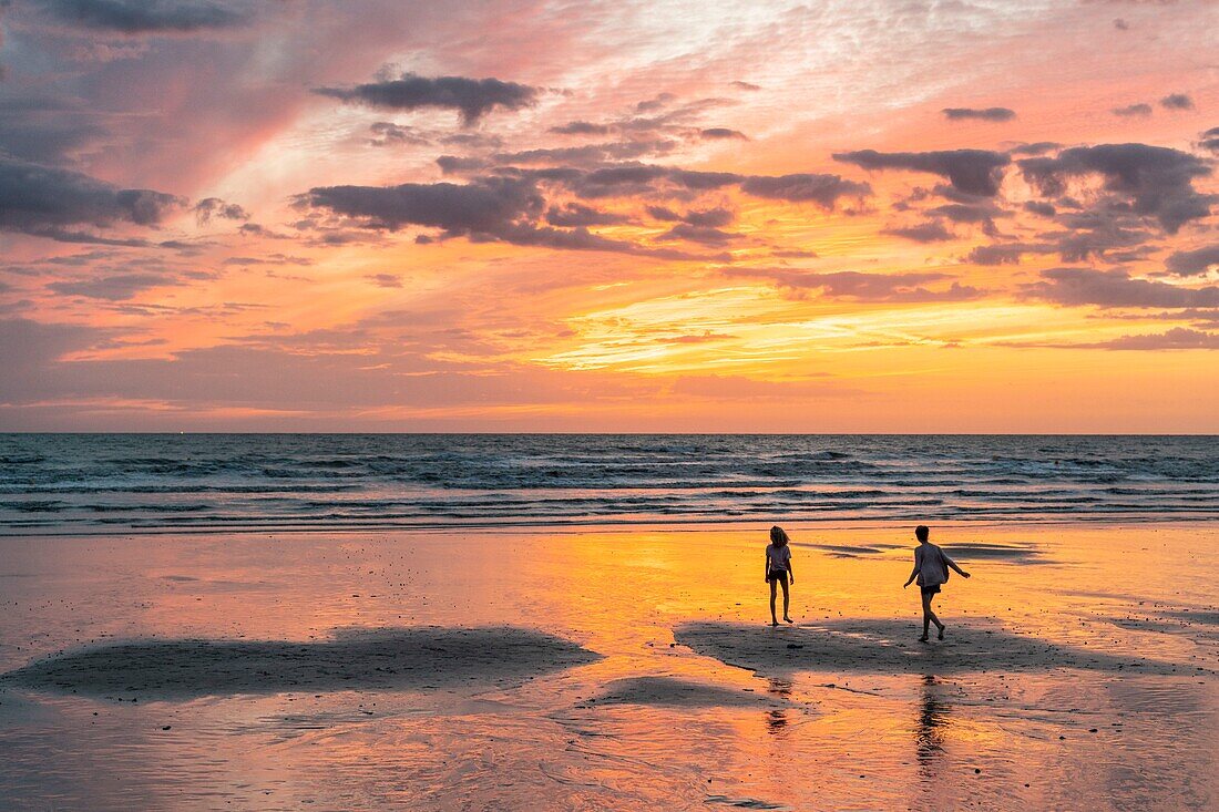
<path fill-rule="evenodd" d="M 794 672 L 953 674 L 1045 672 L 1057 668 L 1130 674 L 1199 673 L 1195 666 L 1142 657 L 1117 657 L 1013 634 L 997 622 L 950 623 L 947 640 L 915 640 L 914 623 L 844 619 L 817 627 L 770 628 L 697 622 L 674 629 L 673 638 L 694 651 L 759 674 Z"/>

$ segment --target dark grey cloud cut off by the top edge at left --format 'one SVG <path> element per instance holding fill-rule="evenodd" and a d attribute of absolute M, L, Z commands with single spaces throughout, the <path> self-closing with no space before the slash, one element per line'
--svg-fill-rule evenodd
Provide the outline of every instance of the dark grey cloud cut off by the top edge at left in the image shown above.
<path fill-rule="evenodd" d="M 254 17 L 251 2 L 234 0 L 35 0 L 66 23 L 122 34 L 193 33 L 235 28 Z"/>

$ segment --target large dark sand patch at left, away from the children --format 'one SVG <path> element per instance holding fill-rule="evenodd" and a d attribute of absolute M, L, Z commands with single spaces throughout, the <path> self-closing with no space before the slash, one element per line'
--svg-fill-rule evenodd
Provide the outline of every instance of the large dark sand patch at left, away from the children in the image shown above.
<path fill-rule="evenodd" d="M 94 696 L 187 699 L 297 690 L 518 684 L 599 655 L 512 627 L 340 629 L 329 640 L 137 640 L 0 674 L 0 683 Z"/>

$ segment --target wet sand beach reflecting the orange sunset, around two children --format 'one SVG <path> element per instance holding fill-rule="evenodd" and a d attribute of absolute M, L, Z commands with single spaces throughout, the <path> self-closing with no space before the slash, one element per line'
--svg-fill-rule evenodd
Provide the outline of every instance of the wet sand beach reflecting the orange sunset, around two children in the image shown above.
<path fill-rule="evenodd" d="M 1219 532 L 0 539 L 13 810 L 1219 805 Z"/>

